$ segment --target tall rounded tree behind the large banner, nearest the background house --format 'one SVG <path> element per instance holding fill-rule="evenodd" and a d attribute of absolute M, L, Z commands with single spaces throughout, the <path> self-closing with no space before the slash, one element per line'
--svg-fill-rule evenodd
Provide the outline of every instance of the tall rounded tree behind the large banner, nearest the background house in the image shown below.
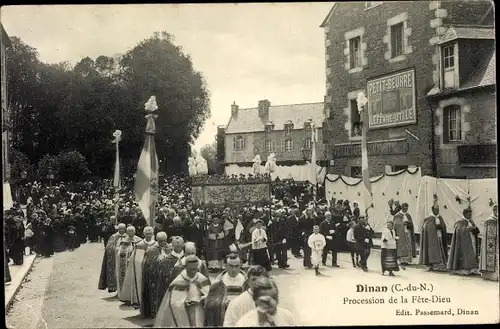
<path fill-rule="evenodd" d="M 187 169 L 189 144 L 198 137 L 210 115 L 209 93 L 202 74 L 194 70 L 191 58 L 173 43 L 173 36 L 167 32 L 155 33 L 140 42 L 124 54 L 120 66 L 130 102 L 136 106 L 136 112 L 124 119 L 128 125 L 137 122 L 144 125 L 143 104 L 155 95 L 159 110 L 156 120 L 159 157 L 168 155 L 168 172 Z M 141 141 L 143 129 L 144 126 Z M 130 142 L 124 140 L 125 144 Z M 137 149 L 137 145 L 131 146 L 131 150 Z"/>

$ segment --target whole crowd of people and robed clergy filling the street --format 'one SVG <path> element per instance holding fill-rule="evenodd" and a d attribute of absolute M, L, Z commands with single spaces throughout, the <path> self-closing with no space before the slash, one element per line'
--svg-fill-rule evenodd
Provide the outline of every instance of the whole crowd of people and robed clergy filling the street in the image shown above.
<path fill-rule="evenodd" d="M 28 186 L 25 221 L 19 204 L 5 213 L 4 253 L 19 264 L 26 246 L 30 253 L 50 257 L 87 241 L 103 242 L 98 288 L 116 292 L 160 327 L 224 326 L 233 309 L 240 313 L 227 320 L 232 325 L 290 324 L 294 320 L 286 311 L 273 316 L 279 310 L 277 300 L 262 288 L 277 293 L 269 276 L 273 266 L 290 267 L 288 250 L 316 275 L 321 275 L 320 265 L 327 265 L 329 254 L 331 266 L 339 267 L 337 253 L 342 251 L 350 252 L 353 267 L 367 271 L 375 237 L 357 202 L 314 202 L 309 184 L 293 181 L 273 182 L 273 200 L 267 205 L 209 208 L 192 204 L 190 177 L 168 177 L 160 187 L 150 225 L 135 203 L 131 179 L 123 183 L 119 197 L 109 181 L 79 184 L 71 191 L 64 184 Z M 393 276 L 400 268 L 419 263 L 431 271 L 481 273 L 498 280 L 496 205 L 479 248 L 479 230 L 470 208 L 448 231 L 435 203 L 432 215 L 422 222 L 417 262 L 417 236 L 408 204 L 391 200 L 389 207 L 392 216 L 381 237 L 382 274 Z M 248 272 L 243 271 L 245 266 L 250 266 Z M 252 281 L 256 276 L 262 278 Z M 233 299 L 243 296 L 246 306 L 231 306 Z M 255 309 L 258 312 L 250 315 Z"/>

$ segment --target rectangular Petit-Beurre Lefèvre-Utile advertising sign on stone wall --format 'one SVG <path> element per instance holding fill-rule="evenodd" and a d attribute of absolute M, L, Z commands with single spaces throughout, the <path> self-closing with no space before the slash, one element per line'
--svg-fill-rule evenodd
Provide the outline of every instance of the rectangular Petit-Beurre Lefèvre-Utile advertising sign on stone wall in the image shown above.
<path fill-rule="evenodd" d="M 370 80 L 366 87 L 369 129 L 417 123 L 413 69 Z"/>

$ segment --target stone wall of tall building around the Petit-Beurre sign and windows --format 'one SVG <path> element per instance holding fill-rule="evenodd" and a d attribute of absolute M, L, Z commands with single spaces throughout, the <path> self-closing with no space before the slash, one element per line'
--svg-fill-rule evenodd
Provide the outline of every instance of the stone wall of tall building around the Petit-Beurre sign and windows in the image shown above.
<path fill-rule="evenodd" d="M 404 15 L 407 17 L 408 42 L 407 54 L 400 61 L 387 59 L 388 20 Z M 430 39 L 436 35 L 435 10 L 429 8 L 429 2 L 390 2 L 365 10 L 364 3 L 337 3 L 328 27 L 325 29 L 327 63 L 327 102 L 330 105 L 330 118 L 325 128 L 328 147 L 341 143 L 359 143 L 360 138 L 349 136 L 349 93 L 366 94 L 367 81 L 382 75 L 396 73 L 405 69 L 415 70 L 417 124 L 389 129 L 371 130 L 367 134 L 369 141 L 384 141 L 407 138 L 408 129 L 420 141 L 408 138 L 407 154 L 381 155 L 370 157 L 370 174 L 383 173 L 387 165 L 416 165 L 422 168 L 424 175 L 431 174 L 431 112 L 426 99 L 427 92 L 434 86 L 435 47 Z M 364 52 L 364 66 L 359 72 L 349 73 L 345 67 L 348 50 L 345 33 L 363 29 L 361 50 Z M 351 97 L 353 97 L 351 95 Z M 355 96 L 354 96 L 355 98 Z M 331 153 L 331 151 L 329 151 Z M 330 172 L 349 174 L 350 166 L 360 166 L 360 158 L 335 159 L 335 166 Z"/>

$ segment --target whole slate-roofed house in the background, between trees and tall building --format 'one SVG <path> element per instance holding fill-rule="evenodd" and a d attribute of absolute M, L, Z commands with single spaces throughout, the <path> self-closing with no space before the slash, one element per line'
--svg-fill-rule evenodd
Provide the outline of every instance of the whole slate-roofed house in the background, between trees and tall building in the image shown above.
<path fill-rule="evenodd" d="M 231 105 L 224 131 L 224 164 L 251 166 L 256 155 L 262 163 L 274 153 L 277 165 L 300 165 L 311 159 L 312 130 L 317 131 L 316 159 L 324 159 L 322 122 L 324 103 L 272 106 L 261 100 L 255 108 Z"/>

